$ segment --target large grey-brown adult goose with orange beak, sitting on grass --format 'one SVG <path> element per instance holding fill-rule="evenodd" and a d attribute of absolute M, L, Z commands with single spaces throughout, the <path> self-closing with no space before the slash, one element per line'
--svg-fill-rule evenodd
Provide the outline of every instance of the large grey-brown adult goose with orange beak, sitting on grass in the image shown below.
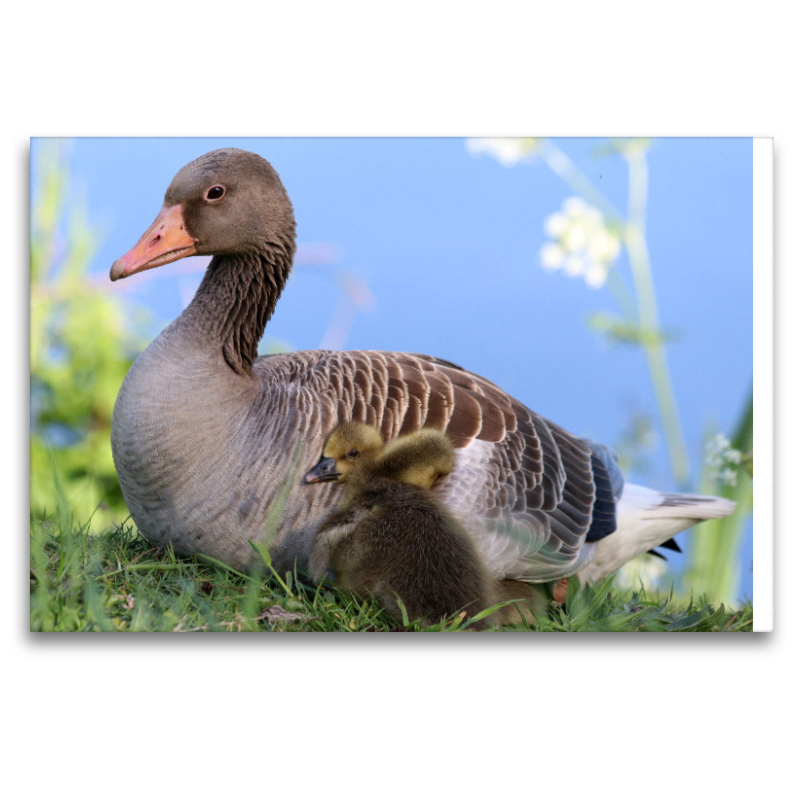
<path fill-rule="evenodd" d="M 222 149 L 178 172 L 155 222 L 111 267 L 119 280 L 214 256 L 186 310 L 136 359 L 114 408 L 114 463 L 152 542 L 246 568 L 250 540 L 266 540 L 278 569 L 306 565 L 341 489 L 302 477 L 326 436 L 352 419 L 384 440 L 423 425 L 447 432 L 456 464 L 435 491 L 497 578 L 596 580 L 733 511 L 719 498 L 624 485 L 606 448 L 448 361 L 324 350 L 257 358 L 294 251 L 292 205 L 275 170 Z"/>

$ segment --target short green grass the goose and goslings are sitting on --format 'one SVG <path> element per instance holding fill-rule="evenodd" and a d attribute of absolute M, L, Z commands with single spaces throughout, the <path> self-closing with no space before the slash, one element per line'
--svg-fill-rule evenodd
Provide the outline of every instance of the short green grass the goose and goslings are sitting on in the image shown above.
<path fill-rule="evenodd" d="M 267 565 L 245 575 L 222 564 L 180 559 L 131 526 L 100 535 L 56 519 L 31 526 L 33 631 L 460 631 L 468 618 L 404 628 L 371 600 L 316 587 Z M 267 556 L 268 560 L 268 556 Z M 564 607 L 552 604 L 538 631 L 752 631 L 753 608 L 676 605 L 669 596 L 624 592 L 606 581 L 571 580 Z"/>

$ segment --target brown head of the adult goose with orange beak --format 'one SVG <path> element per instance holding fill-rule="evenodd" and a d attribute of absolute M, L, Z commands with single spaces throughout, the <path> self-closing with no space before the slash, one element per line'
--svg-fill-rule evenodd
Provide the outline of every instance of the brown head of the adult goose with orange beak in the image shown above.
<path fill-rule="evenodd" d="M 112 281 L 191 255 L 294 253 L 292 204 L 278 173 L 255 153 L 224 148 L 183 167 L 164 205 L 134 247 L 111 267 Z"/>

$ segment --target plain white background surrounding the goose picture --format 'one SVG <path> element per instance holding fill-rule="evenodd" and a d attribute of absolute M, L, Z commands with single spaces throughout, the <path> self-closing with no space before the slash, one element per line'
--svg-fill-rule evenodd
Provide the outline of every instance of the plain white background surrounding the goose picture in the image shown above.
<path fill-rule="evenodd" d="M 800 298 L 791 7 L 289 8 L 76 1 L 6 12 L 2 485 L 13 517 L 2 716 L 11 796 L 783 793 L 796 783 L 800 541 L 790 515 Z M 774 633 L 27 632 L 29 136 L 530 132 L 775 137 Z M 771 324 L 757 308 L 757 345 L 768 345 Z M 756 350 L 757 363 L 768 358 Z M 756 526 L 757 540 L 771 534 Z"/>

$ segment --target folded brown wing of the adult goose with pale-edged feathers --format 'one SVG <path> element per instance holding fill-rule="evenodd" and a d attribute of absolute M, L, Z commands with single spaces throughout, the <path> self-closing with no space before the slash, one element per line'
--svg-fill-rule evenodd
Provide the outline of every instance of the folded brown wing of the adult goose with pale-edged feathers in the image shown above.
<path fill-rule="evenodd" d="M 288 454 L 302 440 L 299 470 L 309 469 L 327 434 L 351 419 L 377 426 L 385 440 L 421 427 L 445 431 L 456 467 L 437 492 L 498 577 L 541 581 L 574 572 L 587 539 L 614 530 L 614 486 L 590 443 L 452 362 L 317 350 L 260 358 L 254 371 L 271 400 L 270 417 L 281 421 L 273 447 Z M 284 527 L 309 523 L 338 493 L 330 484 L 305 491 L 301 499 L 292 489 Z"/>

